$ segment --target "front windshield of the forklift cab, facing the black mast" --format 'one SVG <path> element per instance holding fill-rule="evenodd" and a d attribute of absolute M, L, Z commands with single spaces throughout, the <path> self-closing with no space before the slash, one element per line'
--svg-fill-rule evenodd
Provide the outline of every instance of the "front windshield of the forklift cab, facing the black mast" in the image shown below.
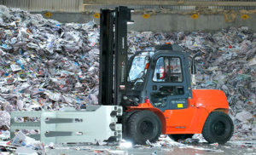
<path fill-rule="evenodd" d="M 129 72 L 128 81 L 141 81 L 143 82 L 143 75 L 146 74 L 146 64 L 149 62 L 149 57 L 153 55 L 152 52 L 143 52 L 134 57 L 131 63 L 131 70 Z"/>

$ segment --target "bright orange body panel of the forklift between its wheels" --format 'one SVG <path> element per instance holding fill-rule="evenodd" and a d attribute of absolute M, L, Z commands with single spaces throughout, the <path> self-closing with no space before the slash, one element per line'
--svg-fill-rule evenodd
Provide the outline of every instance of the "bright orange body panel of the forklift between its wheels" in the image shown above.
<path fill-rule="evenodd" d="M 162 134 L 200 134 L 210 112 L 221 110 L 228 112 L 229 103 L 224 92 L 216 89 L 192 90 L 192 99 L 188 99 L 185 109 L 166 110 L 165 112 L 142 103 L 128 107 L 127 112 L 134 110 L 150 110 L 155 112 L 162 123 Z"/>

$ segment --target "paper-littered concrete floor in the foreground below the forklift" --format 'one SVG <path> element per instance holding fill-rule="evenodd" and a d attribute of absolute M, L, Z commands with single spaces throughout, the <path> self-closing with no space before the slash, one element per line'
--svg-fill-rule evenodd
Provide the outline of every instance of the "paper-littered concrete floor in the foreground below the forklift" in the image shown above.
<path fill-rule="evenodd" d="M 208 144 L 181 144 L 174 142 L 171 146 L 134 146 L 121 149 L 119 146 L 94 146 L 94 145 L 65 145 L 55 146 L 55 149 L 47 149 L 48 155 L 80 155 L 80 154 L 133 154 L 133 155 L 201 155 L 201 154 L 255 154 L 256 141 L 230 141 L 225 145 Z"/>

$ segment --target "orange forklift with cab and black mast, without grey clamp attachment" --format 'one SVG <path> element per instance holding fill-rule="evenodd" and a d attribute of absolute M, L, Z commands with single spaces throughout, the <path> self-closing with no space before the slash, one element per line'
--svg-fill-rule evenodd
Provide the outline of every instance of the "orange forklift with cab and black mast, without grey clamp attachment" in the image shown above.
<path fill-rule="evenodd" d="M 161 134 L 175 141 L 194 134 L 209 143 L 229 141 L 234 124 L 224 92 L 191 87 L 198 55 L 189 66 L 181 47 L 166 44 L 128 59 L 132 22 L 131 9 L 101 9 L 99 103 L 123 106 L 123 136 L 137 144 L 157 141 Z"/>

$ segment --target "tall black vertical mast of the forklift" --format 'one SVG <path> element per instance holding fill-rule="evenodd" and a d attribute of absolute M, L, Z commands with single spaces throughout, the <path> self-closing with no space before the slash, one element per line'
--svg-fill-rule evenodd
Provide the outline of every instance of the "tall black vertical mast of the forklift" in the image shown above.
<path fill-rule="evenodd" d="M 99 104 L 120 105 L 127 83 L 127 23 L 131 9 L 101 9 Z"/>

